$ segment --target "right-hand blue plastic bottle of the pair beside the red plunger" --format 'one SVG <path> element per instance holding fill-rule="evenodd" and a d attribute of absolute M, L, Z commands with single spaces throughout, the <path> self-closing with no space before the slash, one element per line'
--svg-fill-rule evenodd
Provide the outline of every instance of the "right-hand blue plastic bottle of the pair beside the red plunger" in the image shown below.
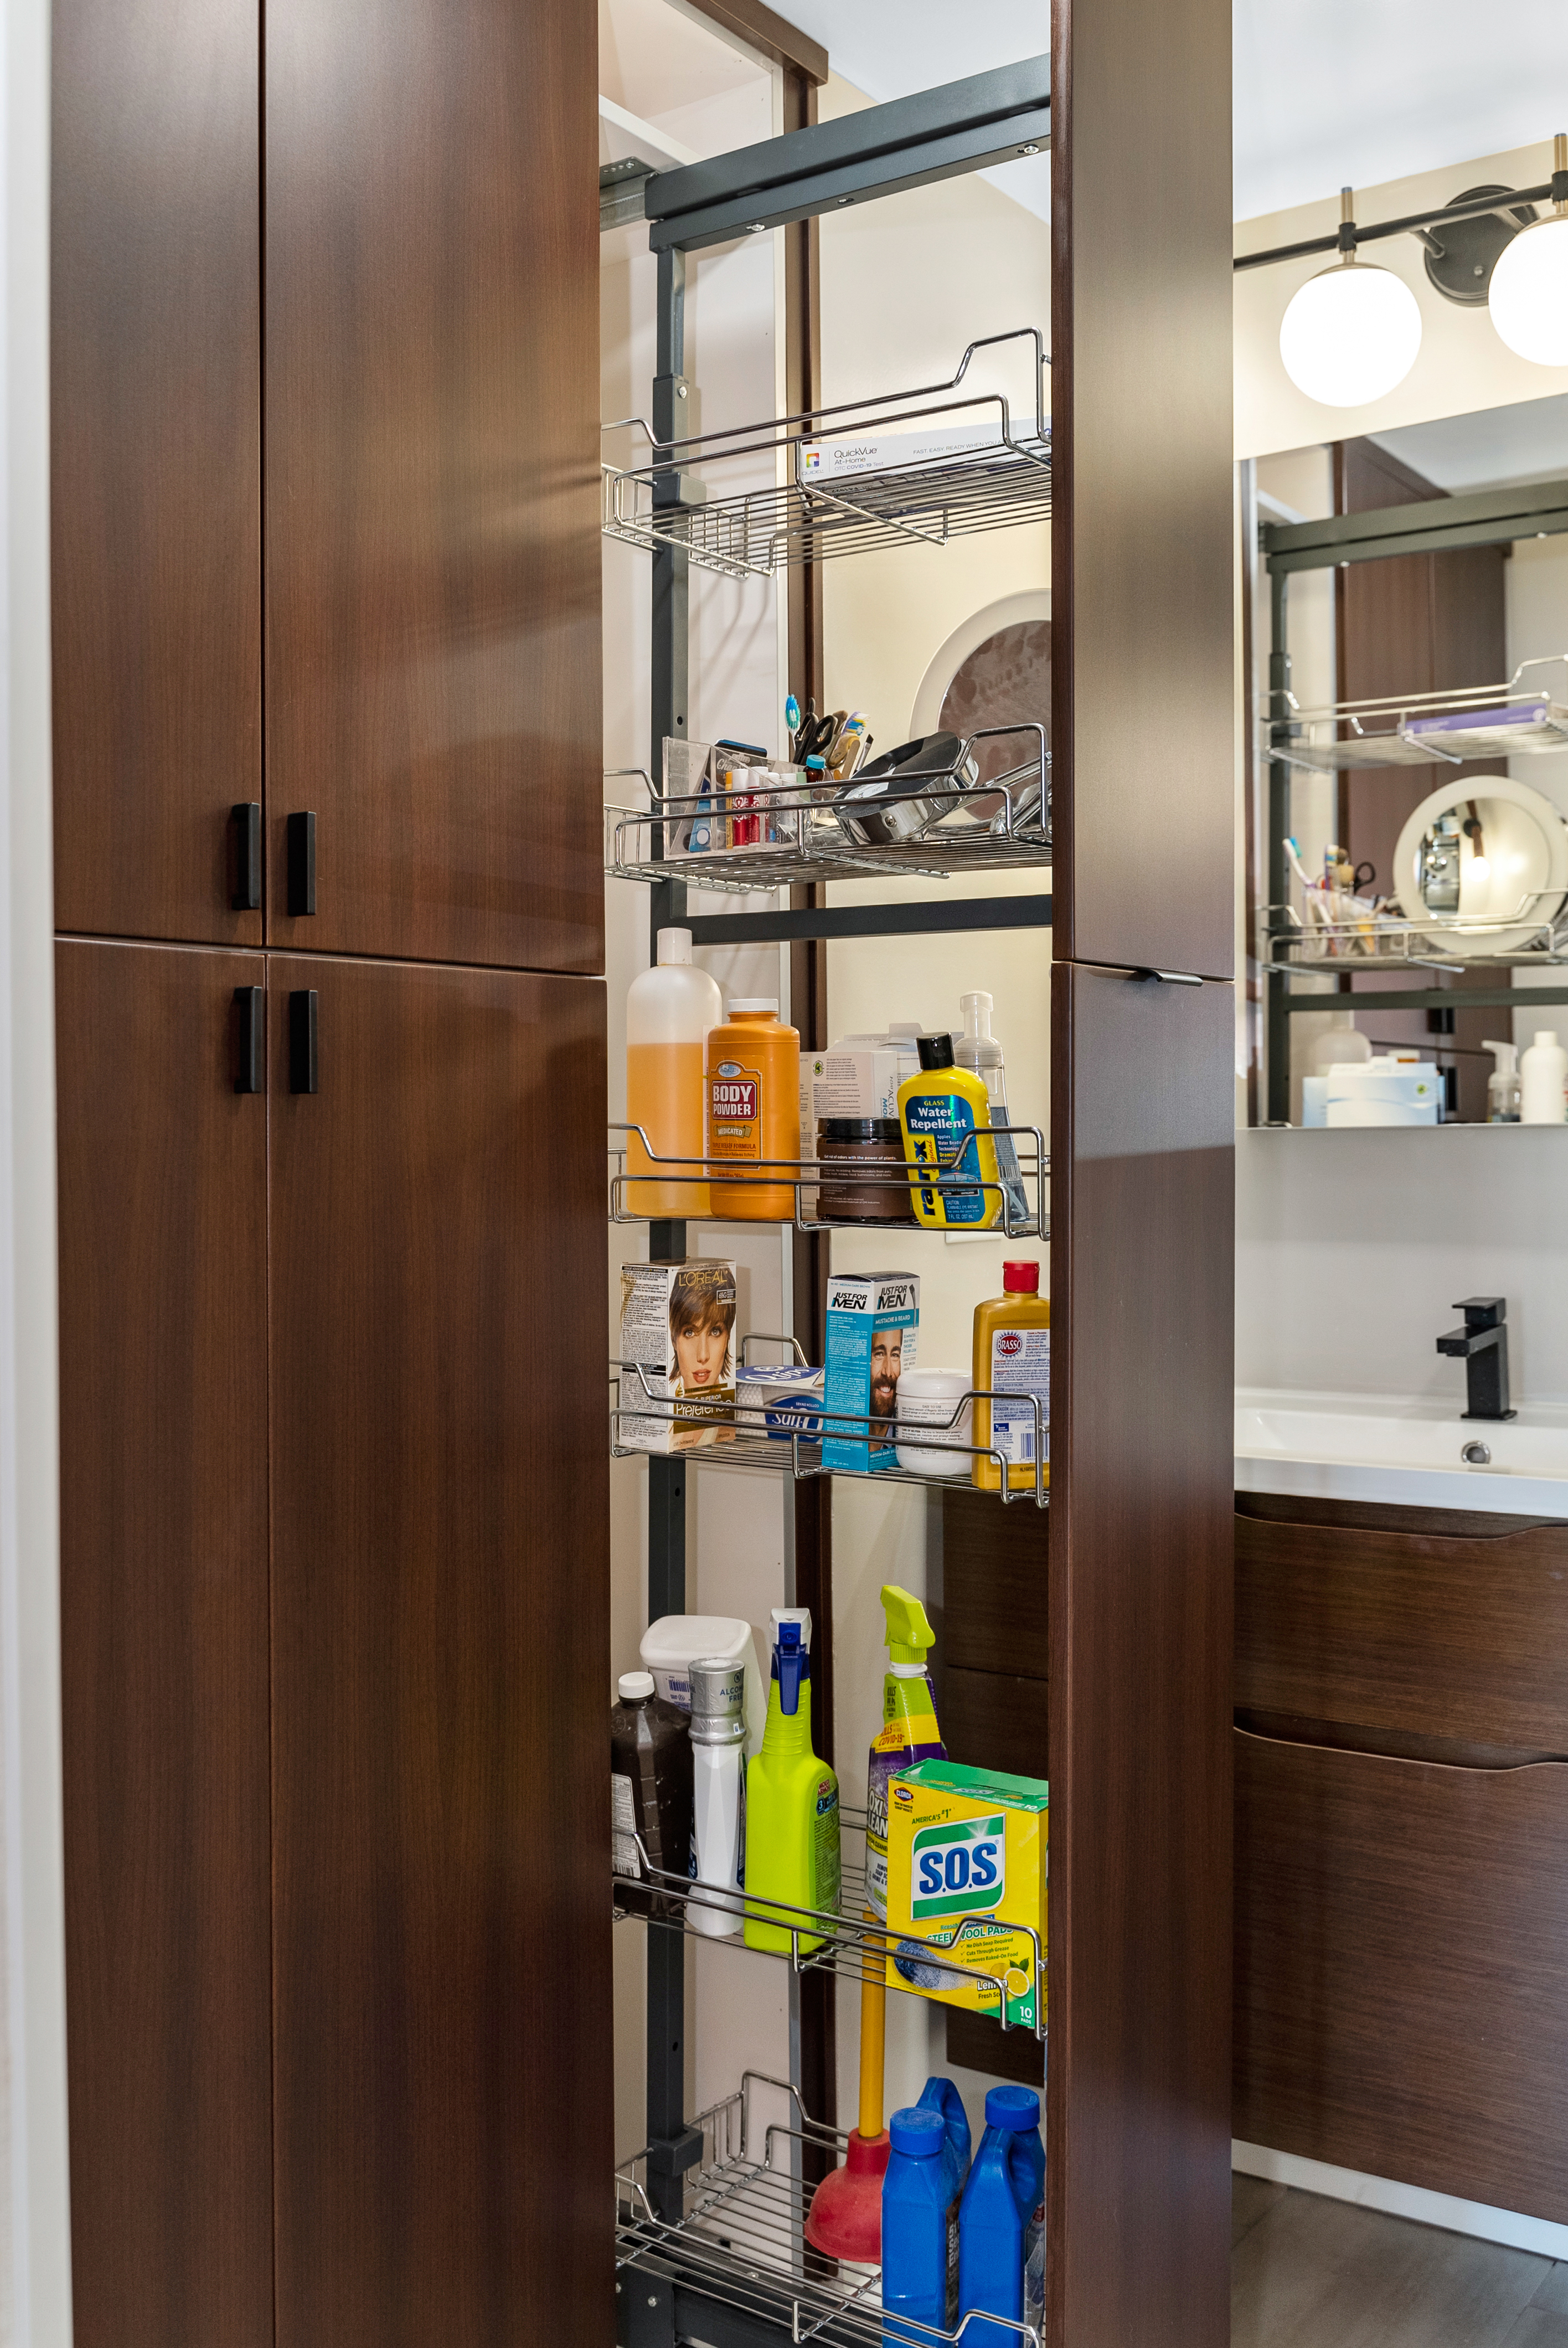
<path fill-rule="evenodd" d="M 1033 2087 L 993 2087 L 958 2214 L 958 2313 L 1007 2315 L 1045 2336 L 1045 2144 Z M 1019 2332 L 976 2322 L 967 2348 L 1019 2348 Z"/>

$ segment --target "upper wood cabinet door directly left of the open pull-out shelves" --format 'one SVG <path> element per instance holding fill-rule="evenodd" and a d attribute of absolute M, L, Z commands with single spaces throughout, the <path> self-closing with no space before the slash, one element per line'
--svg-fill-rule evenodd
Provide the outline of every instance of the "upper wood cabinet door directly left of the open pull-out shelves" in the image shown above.
<path fill-rule="evenodd" d="M 275 944 L 603 967 L 596 162 L 589 7 L 268 5 Z"/>

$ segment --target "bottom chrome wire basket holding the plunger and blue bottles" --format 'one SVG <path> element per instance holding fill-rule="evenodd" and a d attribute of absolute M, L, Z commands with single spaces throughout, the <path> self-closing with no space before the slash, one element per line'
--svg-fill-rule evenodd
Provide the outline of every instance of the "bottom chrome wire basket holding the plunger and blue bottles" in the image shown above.
<path fill-rule="evenodd" d="M 782 2113 L 768 2120 L 768 2104 Z M 681 2179 L 678 2214 L 664 2217 L 669 2181 L 653 2151 L 615 2172 L 615 2289 L 676 2294 L 676 2339 L 753 2341 L 768 2325 L 791 2343 L 883 2348 L 883 2275 L 876 2266 L 829 2261 L 805 2242 L 812 2186 L 807 2158 L 838 2165 L 850 2139 L 812 2120 L 796 2087 L 761 2071 L 739 2092 L 699 2113 L 702 2158 Z M 711 2313 L 704 2313 L 711 2310 Z M 742 2317 L 732 2329 L 723 2310 Z M 617 2325 L 622 2339 L 636 2336 Z M 1040 2348 L 1033 2325 L 1000 2315 L 965 2315 L 955 2332 L 897 2320 L 906 2348 Z"/>

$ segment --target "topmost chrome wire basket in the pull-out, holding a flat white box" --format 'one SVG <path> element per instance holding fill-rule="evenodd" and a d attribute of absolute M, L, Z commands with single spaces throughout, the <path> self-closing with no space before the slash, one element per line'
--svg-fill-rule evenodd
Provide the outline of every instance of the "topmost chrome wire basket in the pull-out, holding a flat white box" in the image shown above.
<path fill-rule="evenodd" d="M 1014 420 L 1002 392 L 965 392 L 976 350 L 1033 345 L 1033 411 Z M 1038 326 L 969 343 L 946 383 L 878 399 L 803 409 L 728 432 L 655 441 L 641 416 L 643 465 L 603 465 L 603 533 L 699 571 L 772 578 L 876 547 L 944 547 L 1052 512 L 1052 423 Z M 958 394 L 958 397 L 953 397 Z M 756 479 L 761 474 L 761 479 Z M 751 477 L 751 479 L 749 479 Z"/>

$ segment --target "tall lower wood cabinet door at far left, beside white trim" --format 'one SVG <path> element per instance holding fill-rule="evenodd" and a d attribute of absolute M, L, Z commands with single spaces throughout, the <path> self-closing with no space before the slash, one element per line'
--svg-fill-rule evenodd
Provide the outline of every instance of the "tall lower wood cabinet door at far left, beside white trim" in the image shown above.
<path fill-rule="evenodd" d="M 261 984 L 56 949 L 77 2348 L 272 2348 Z"/>

